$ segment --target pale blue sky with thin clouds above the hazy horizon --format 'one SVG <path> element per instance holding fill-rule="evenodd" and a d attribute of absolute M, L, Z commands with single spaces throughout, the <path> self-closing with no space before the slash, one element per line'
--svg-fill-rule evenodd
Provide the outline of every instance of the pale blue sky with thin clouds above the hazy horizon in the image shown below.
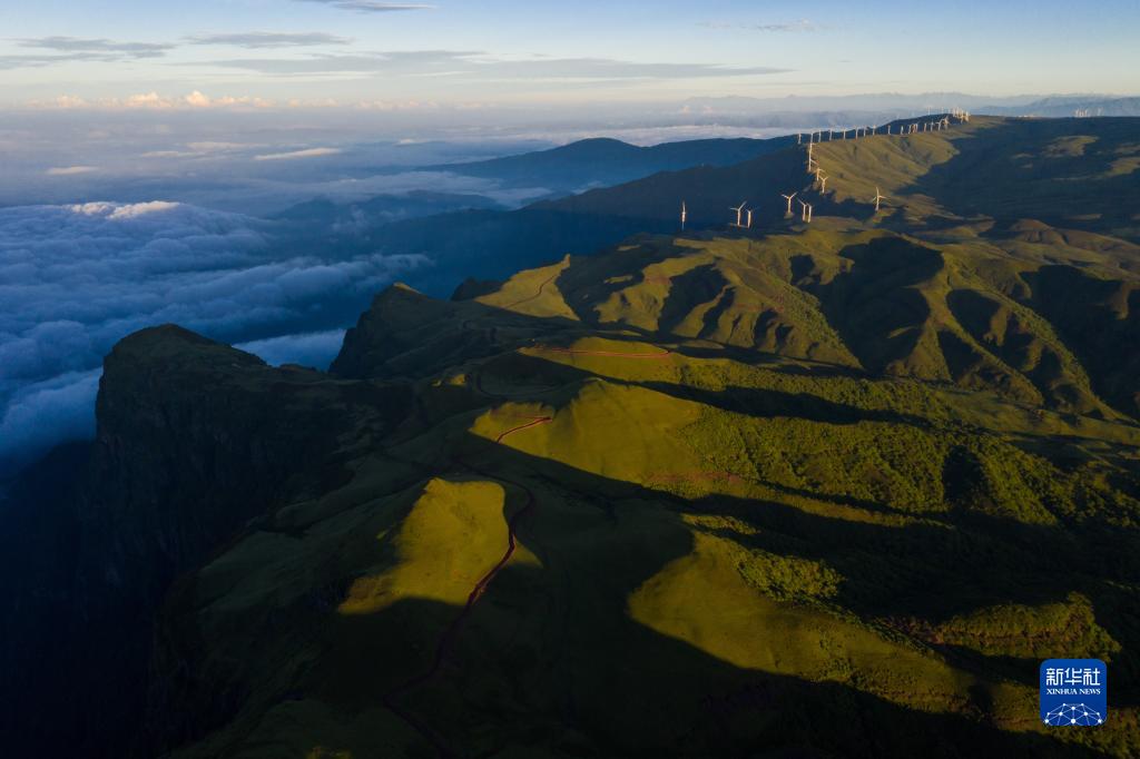
<path fill-rule="evenodd" d="M 1140 92 L 1135 0 L 5 5 L 3 104 Z"/>

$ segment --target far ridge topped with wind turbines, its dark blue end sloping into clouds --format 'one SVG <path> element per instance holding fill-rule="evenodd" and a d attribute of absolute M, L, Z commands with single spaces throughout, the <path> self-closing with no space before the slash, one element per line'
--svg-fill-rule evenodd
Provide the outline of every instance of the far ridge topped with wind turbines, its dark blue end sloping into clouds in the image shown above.
<path fill-rule="evenodd" d="M 409 284 L 449 294 L 466 277 L 504 279 L 567 253 L 587 254 L 638 232 L 679 229 L 682 202 L 689 229 L 724 229 L 728 206 L 748 202 L 756 226 L 785 228 L 782 194 L 815 204 L 817 217 L 841 217 L 888 229 L 929 235 L 963 222 L 1008 228 L 1020 219 L 1140 243 L 1138 217 L 1122 198 L 1140 193 L 1137 120 L 1026 120 L 975 116 L 937 132 L 899 136 L 907 119 L 870 138 L 816 145 L 829 174 L 817 191 L 806 170 L 805 145 L 731 166 L 661 172 L 616 187 L 540 202 L 513 212 L 465 211 L 388 225 L 372 238 L 389 253 L 429 252 L 430 270 Z M 891 134 L 885 134 L 886 129 Z M 806 138 L 805 138 L 806 139 Z M 876 214 L 876 186 L 888 195 Z M 793 205 L 796 215 L 799 206 Z"/>

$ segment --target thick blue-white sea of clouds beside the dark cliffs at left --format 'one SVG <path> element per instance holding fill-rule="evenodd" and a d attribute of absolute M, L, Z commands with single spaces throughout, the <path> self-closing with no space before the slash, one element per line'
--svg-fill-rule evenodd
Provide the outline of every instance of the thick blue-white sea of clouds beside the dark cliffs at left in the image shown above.
<path fill-rule="evenodd" d="M 103 357 L 132 332 L 325 366 L 347 313 L 429 263 L 288 251 L 274 222 L 181 203 L 0 209 L 0 475 L 92 434 Z"/>

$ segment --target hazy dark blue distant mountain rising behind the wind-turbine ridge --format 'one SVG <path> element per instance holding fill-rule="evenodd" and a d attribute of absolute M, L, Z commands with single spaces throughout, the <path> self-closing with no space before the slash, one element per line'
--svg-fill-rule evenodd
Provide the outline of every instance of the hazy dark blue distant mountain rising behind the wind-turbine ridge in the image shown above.
<path fill-rule="evenodd" d="M 795 139 L 709 139 L 638 147 L 614 139 L 587 139 L 537 153 L 474 163 L 431 166 L 507 185 L 580 191 L 618 185 L 661 171 L 690 166 L 725 166 L 788 147 Z"/>

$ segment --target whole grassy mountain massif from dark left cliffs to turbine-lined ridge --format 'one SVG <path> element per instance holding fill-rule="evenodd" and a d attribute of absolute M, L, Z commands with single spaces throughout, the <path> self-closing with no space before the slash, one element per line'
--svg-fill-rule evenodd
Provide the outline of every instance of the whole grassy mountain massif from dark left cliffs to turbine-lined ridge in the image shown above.
<path fill-rule="evenodd" d="M 1134 756 L 1134 124 L 893 126 L 496 217 L 695 223 L 389 287 L 328 373 L 122 341 L 2 506 L 6 748 Z M 1104 726 L 1041 725 L 1053 656 Z"/>

